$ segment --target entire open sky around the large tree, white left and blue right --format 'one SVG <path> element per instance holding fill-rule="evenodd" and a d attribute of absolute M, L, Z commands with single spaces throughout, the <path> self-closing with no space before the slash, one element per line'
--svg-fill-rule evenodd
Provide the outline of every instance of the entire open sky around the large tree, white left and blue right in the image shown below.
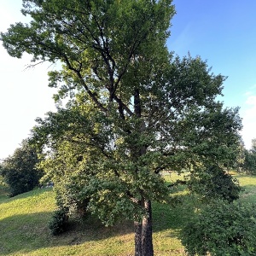
<path fill-rule="evenodd" d="M 226 107 L 240 107 L 242 138 L 247 148 L 256 137 L 256 1 L 174 0 L 167 45 L 177 55 L 201 55 L 213 73 L 229 78 L 224 82 Z M 16 21 L 21 0 L 0 0 L 0 31 Z M 34 119 L 54 109 L 53 90 L 47 87 L 49 65 L 26 69 L 30 57 L 9 57 L 0 46 L 0 159 L 12 154 L 28 137 Z"/>

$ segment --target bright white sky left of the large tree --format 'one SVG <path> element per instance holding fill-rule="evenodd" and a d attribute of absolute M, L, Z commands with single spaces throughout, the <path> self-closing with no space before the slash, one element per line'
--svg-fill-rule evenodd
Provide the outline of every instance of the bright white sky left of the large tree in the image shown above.
<path fill-rule="evenodd" d="M 10 24 L 17 21 L 29 22 L 21 15 L 22 1 L 0 0 L 0 31 L 6 32 Z M 49 88 L 47 73 L 49 63 L 35 68 L 26 68 L 32 56 L 22 59 L 12 58 L 0 44 L 0 160 L 13 154 L 15 148 L 28 137 L 34 119 L 44 117 L 44 113 L 55 110 Z M 53 67 L 54 68 L 54 67 Z"/>

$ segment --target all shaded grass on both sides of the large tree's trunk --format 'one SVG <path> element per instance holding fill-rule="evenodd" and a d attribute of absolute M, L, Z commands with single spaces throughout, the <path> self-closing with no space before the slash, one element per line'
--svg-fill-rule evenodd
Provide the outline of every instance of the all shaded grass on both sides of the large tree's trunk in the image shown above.
<path fill-rule="evenodd" d="M 47 190 L 37 189 L 27 194 L 18 195 L 8 201 L 41 195 Z M 189 195 L 178 195 L 176 200 L 179 202 L 173 205 L 153 203 L 154 232 L 173 230 L 172 234 L 170 232 L 170 236 L 173 236 L 177 233 L 175 230 L 181 229 L 190 219 L 194 205 Z M 96 218 L 90 217 L 83 223 L 71 221 L 67 232 L 59 236 L 52 236 L 48 227 L 51 217 L 52 212 L 36 212 L 12 215 L 0 220 L 0 255 L 13 255 L 15 253 L 25 255 L 40 248 L 74 246 L 87 241 L 104 242 L 109 237 L 133 233 L 133 224 L 130 221 L 124 221 L 107 228 Z"/>

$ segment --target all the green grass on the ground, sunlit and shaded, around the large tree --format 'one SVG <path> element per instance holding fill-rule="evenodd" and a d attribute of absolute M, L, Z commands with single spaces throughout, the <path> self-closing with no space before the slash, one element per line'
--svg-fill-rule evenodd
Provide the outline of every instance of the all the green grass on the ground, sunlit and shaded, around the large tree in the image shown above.
<path fill-rule="evenodd" d="M 255 201 L 256 177 L 238 178 L 245 189 L 241 200 Z M 184 255 L 177 234 L 189 219 L 193 201 L 182 195 L 181 188 L 174 192 L 184 197 L 183 204 L 153 205 L 155 255 Z M 9 199 L 0 188 L 0 255 L 133 255 L 131 223 L 105 228 L 88 220 L 83 225 L 73 225 L 61 236 L 51 236 L 48 222 L 54 209 L 50 189 L 37 189 Z"/>

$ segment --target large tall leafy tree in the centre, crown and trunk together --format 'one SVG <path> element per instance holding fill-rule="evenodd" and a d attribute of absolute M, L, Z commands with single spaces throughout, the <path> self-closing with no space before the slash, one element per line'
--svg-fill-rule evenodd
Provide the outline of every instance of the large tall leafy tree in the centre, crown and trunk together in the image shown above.
<path fill-rule="evenodd" d="M 131 218 L 138 256 L 154 254 L 151 201 L 168 195 L 160 171 L 229 166 L 241 128 L 238 110 L 216 101 L 225 78 L 166 49 L 171 2 L 23 0 L 32 21 L 1 34 L 9 55 L 61 62 L 49 86 L 67 108 L 33 131 L 61 203 L 86 202 L 105 224 Z"/>

